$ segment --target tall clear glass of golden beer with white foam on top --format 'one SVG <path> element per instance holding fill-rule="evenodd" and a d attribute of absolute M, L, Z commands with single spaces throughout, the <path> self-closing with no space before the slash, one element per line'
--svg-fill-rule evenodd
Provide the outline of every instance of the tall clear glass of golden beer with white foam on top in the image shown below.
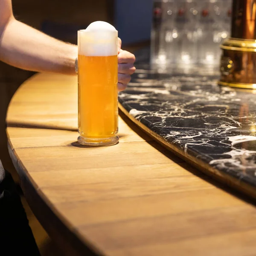
<path fill-rule="evenodd" d="M 78 31 L 78 141 L 113 145 L 119 140 L 117 31 L 96 21 Z"/>

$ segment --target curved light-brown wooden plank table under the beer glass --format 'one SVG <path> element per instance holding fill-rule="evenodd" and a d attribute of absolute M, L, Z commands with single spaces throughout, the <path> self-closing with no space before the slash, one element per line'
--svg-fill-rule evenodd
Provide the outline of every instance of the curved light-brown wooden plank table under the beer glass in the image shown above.
<path fill-rule="evenodd" d="M 33 76 L 13 97 L 7 125 L 26 198 L 66 255 L 255 255 L 252 202 L 124 114 L 119 144 L 80 147 L 76 76 Z"/>

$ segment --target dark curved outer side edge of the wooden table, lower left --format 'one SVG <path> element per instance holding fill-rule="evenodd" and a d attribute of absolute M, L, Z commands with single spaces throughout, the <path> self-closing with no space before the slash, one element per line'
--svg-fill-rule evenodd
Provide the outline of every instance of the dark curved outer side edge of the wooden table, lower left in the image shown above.
<path fill-rule="evenodd" d="M 7 132 L 8 136 L 8 132 Z M 72 228 L 72 225 L 58 212 L 57 209 L 49 202 L 48 198 L 41 192 L 33 181 L 26 167 L 23 165 L 8 136 L 8 151 L 12 163 L 20 177 L 21 188 L 24 192 L 29 207 L 32 209 L 38 221 L 50 236 L 53 236 L 58 245 L 63 245 L 65 253 L 72 256 L 103 255 L 90 241 L 86 241 Z M 44 217 L 43 217 L 44 216 Z M 47 216 L 47 218 L 46 218 Z M 52 219 L 53 225 L 49 225 L 46 219 Z M 58 230 L 58 232 L 56 232 Z M 60 236 L 61 234 L 61 236 Z M 71 254 L 72 253 L 72 254 Z"/>

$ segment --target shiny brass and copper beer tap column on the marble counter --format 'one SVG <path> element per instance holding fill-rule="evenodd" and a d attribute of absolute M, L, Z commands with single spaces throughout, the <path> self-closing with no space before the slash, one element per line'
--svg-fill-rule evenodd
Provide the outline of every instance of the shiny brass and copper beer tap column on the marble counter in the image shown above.
<path fill-rule="evenodd" d="M 218 83 L 256 89 L 256 0 L 233 0 L 231 38 L 221 49 Z"/>

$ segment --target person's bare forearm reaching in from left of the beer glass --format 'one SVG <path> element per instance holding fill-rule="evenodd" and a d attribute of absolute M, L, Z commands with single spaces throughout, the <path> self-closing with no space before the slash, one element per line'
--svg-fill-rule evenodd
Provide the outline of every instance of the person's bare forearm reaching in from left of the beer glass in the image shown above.
<path fill-rule="evenodd" d="M 0 0 L 0 60 L 25 70 L 75 73 L 77 47 L 16 20 L 11 0 Z"/>

